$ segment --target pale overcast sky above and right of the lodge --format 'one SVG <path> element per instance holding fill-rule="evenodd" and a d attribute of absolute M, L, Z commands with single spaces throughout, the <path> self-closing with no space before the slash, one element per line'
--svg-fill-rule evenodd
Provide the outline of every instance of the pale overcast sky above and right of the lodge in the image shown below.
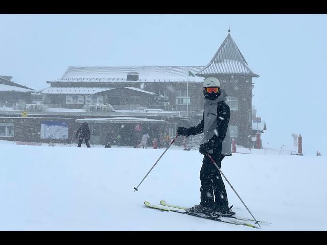
<path fill-rule="evenodd" d="M 0 14 L 0 75 L 49 87 L 68 66 L 206 65 L 230 34 L 266 120 L 263 145 L 327 154 L 326 14 Z"/>

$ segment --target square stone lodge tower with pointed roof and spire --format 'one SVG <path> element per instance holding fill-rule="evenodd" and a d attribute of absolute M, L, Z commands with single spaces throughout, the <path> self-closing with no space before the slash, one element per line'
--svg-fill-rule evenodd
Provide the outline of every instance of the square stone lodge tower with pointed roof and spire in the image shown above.
<path fill-rule="evenodd" d="M 211 61 L 197 74 L 208 78 L 215 77 L 220 81 L 222 89 L 229 94 L 231 116 L 229 126 L 237 136 L 240 145 L 250 147 L 252 145 L 252 78 L 258 78 L 252 68 L 249 67 L 244 56 L 230 35 L 228 35 L 218 48 Z M 235 132 L 236 131 L 236 132 Z"/>

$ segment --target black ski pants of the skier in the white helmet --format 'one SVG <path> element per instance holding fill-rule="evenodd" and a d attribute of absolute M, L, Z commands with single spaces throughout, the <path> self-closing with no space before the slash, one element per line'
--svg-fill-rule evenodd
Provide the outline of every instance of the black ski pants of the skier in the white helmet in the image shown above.
<path fill-rule="evenodd" d="M 212 156 L 218 167 L 225 156 Z M 208 208 L 223 208 L 228 210 L 228 199 L 224 182 L 215 164 L 204 156 L 200 170 L 201 205 Z M 215 195 L 215 200 L 214 200 Z"/>

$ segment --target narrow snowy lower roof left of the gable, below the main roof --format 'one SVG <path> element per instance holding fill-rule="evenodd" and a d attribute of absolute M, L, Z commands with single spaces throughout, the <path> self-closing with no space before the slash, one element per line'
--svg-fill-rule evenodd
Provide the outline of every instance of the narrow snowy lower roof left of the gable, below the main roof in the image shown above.
<path fill-rule="evenodd" d="M 49 87 L 41 93 L 44 94 L 95 94 L 115 88 L 99 88 L 99 87 Z"/>

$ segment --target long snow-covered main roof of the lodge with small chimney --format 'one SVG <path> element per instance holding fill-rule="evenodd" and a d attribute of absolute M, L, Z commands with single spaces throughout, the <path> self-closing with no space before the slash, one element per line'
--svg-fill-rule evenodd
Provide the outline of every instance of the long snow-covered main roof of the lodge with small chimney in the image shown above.
<path fill-rule="evenodd" d="M 127 74 L 138 72 L 142 82 L 202 82 L 202 77 L 190 77 L 205 66 L 69 66 L 59 81 L 127 81 Z M 54 81 L 53 81 L 54 82 Z"/>

